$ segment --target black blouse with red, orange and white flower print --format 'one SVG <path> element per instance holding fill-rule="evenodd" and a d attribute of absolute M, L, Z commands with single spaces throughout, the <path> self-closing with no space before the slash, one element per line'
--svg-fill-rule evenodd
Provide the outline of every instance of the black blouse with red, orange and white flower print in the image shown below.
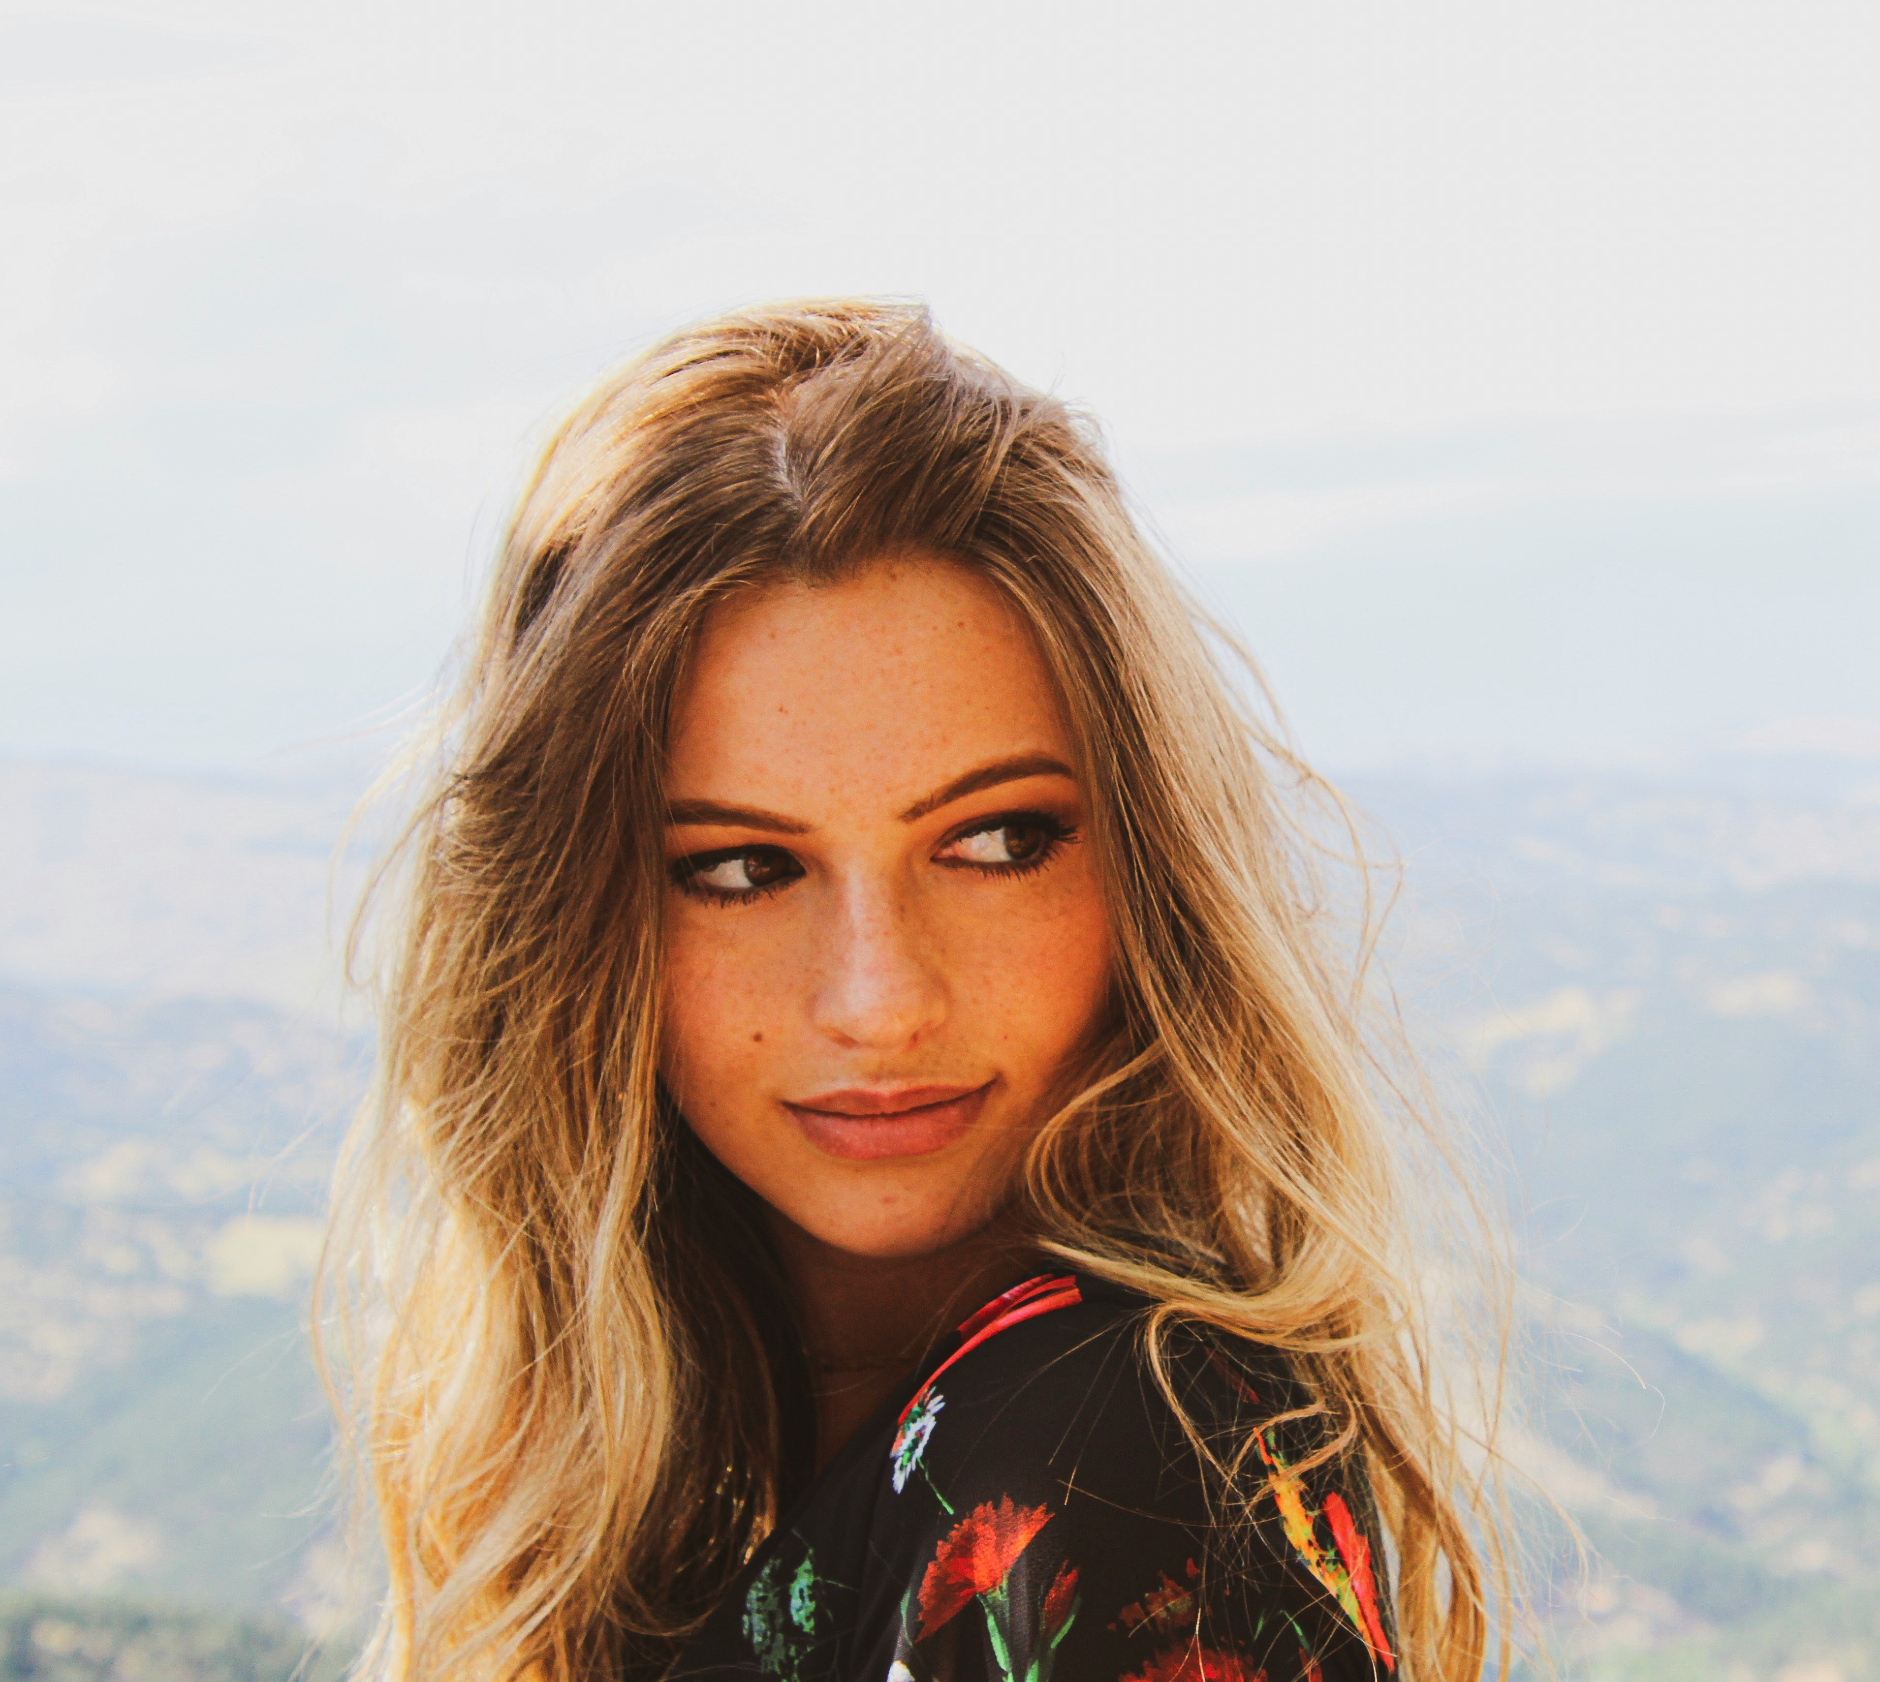
<path fill-rule="evenodd" d="M 1143 1299 L 1081 1274 L 989 1302 L 846 1443 L 673 1678 L 1354 1682 L 1397 1669 L 1361 1473 L 1284 1357 L 1169 1338 L 1222 1449 L 1258 1455 L 1224 1524 L 1141 1351 Z M 1258 1473 L 1263 1473 L 1263 1481 Z"/>

